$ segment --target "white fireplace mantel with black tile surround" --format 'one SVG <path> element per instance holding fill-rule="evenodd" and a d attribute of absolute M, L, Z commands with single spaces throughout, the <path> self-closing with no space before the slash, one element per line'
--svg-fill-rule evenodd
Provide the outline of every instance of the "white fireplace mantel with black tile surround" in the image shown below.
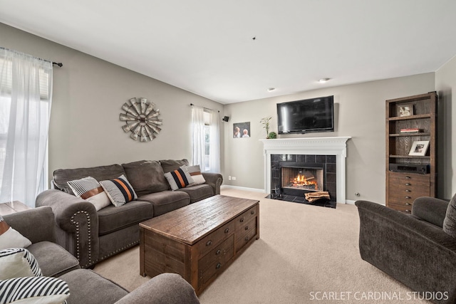
<path fill-rule="evenodd" d="M 264 146 L 264 189 L 271 194 L 279 162 L 321 163 L 326 166 L 326 190 L 346 203 L 346 142 L 351 137 L 299 137 L 261 140 Z M 334 195 L 334 192 L 336 194 Z"/>

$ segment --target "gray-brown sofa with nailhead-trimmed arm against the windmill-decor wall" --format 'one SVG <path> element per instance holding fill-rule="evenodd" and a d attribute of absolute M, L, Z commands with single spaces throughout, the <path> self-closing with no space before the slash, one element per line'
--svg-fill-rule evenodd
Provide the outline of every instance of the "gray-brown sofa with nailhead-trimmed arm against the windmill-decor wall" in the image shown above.
<path fill-rule="evenodd" d="M 172 191 L 165 179 L 187 159 L 130 162 L 108 166 L 58 169 L 53 172 L 53 188 L 36 197 L 36 206 L 51 206 L 56 217 L 56 241 L 76 256 L 81 267 L 90 268 L 139 243 L 141 221 L 220 194 L 221 174 L 203 172 L 204 184 Z M 67 182 L 83 177 L 98 181 L 125 175 L 138 199 L 123 206 L 106 206 L 96 211 L 90 202 L 73 195 Z"/>

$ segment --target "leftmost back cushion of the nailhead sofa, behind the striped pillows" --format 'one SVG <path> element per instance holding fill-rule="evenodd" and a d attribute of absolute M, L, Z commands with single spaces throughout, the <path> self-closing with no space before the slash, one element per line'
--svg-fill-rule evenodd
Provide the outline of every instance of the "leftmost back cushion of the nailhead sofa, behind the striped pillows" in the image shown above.
<path fill-rule="evenodd" d="M 120 164 L 78 169 L 57 169 L 53 172 L 53 184 L 57 189 L 73 194 L 73 191 L 67 184 L 69 181 L 82 179 L 83 177 L 93 177 L 99 182 L 105 179 L 115 179 L 122 174 L 125 174 L 125 172 Z"/>

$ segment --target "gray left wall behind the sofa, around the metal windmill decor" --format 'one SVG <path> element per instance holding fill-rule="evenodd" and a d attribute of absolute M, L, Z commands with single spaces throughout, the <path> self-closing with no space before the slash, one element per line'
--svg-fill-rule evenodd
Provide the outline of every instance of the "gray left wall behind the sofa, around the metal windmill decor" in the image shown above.
<path fill-rule="evenodd" d="M 140 159 L 191 159 L 190 103 L 223 110 L 212 100 L 3 23 L 0 41 L 5 48 L 63 63 L 63 68 L 53 69 L 50 174 L 58 168 Z M 135 142 L 121 129 L 121 107 L 133 97 L 152 100 L 160 109 L 163 127 L 152 142 Z"/>

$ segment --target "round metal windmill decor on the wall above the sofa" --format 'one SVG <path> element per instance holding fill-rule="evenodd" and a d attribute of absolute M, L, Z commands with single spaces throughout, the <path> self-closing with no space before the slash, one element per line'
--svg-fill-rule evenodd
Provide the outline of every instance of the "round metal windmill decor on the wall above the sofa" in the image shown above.
<path fill-rule="evenodd" d="M 160 110 L 155 110 L 155 104 L 147 98 L 130 98 L 129 101 L 122 106 L 125 113 L 120 113 L 120 120 L 126 123 L 122 126 L 123 131 L 132 132 L 130 137 L 133 140 L 153 140 L 162 130 L 162 120 L 158 118 Z"/>

